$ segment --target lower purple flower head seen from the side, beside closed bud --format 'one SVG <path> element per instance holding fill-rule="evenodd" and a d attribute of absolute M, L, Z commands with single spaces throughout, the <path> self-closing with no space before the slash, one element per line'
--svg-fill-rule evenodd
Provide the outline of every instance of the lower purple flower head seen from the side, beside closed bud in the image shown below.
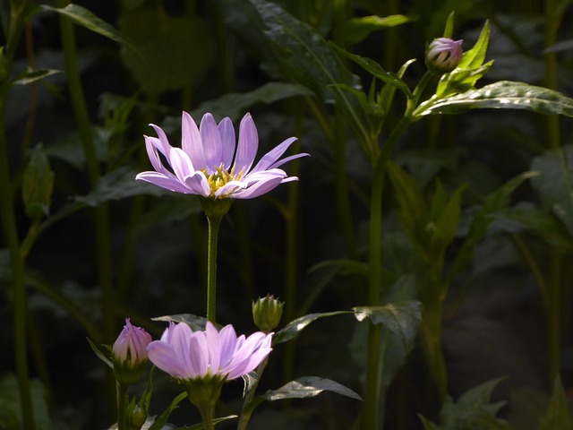
<path fill-rule="evenodd" d="M 232 325 L 221 331 L 208 322 L 205 331 L 186 323 L 170 323 L 160 340 L 147 347 L 151 363 L 175 379 L 232 380 L 248 374 L 269 355 L 272 333 L 261 331 L 237 338 Z"/>

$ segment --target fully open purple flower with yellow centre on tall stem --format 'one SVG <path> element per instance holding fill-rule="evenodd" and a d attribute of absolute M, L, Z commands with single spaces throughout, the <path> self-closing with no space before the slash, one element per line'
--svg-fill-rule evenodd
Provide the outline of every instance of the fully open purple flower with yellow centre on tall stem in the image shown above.
<path fill-rule="evenodd" d="M 268 193 L 279 184 L 297 180 L 296 176 L 287 176 L 278 167 L 308 155 L 303 153 L 280 159 L 296 140 L 290 137 L 252 168 L 259 136 L 250 114 L 241 120 L 236 148 L 235 129 L 229 118 L 217 124 L 211 114 L 205 114 L 197 127 L 192 117 L 184 112 L 181 148 L 172 147 L 163 130 L 157 125 L 151 126 L 158 138 L 144 137 L 151 165 L 156 171 L 141 172 L 135 178 L 175 193 L 216 199 L 251 199 Z M 167 160 L 169 168 L 164 166 L 159 154 Z"/>

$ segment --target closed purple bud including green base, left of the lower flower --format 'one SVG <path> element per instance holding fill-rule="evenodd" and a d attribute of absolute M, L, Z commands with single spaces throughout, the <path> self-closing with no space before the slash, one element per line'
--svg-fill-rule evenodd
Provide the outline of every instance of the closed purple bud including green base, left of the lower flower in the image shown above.
<path fill-rule="evenodd" d="M 115 378 L 120 383 L 135 383 L 140 379 L 143 365 L 148 361 L 146 348 L 151 340 L 150 333 L 132 325 L 129 318 L 125 319 L 124 330 L 112 348 Z"/>

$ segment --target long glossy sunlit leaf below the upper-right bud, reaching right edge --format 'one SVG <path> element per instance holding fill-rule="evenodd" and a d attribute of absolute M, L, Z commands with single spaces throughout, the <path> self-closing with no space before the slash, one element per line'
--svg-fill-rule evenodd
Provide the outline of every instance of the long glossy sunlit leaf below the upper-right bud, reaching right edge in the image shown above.
<path fill-rule="evenodd" d="M 415 116 L 461 114 L 484 108 L 526 109 L 544 115 L 573 116 L 573 99 L 524 82 L 500 81 L 446 99 L 425 101 L 416 108 Z"/>

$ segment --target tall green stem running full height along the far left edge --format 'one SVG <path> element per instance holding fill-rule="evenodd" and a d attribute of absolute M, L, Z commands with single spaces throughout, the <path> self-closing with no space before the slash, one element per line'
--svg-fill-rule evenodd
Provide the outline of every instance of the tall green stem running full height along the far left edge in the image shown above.
<path fill-rule="evenodd" d="M 14 362 L 20 391 L 21 417 L 23 428 L 34 429 L 34 413 L 30 395 L 30 374 L 28 373 L 28 351 L 26 345 L 26 321 L 28 314 L 28 298 L 24 282 L 24 257 L 21 254 L 18 226 L 13 207 L 13 183 L 10 177 L 10 162 L 8 159 L 8 142 L 6 138 L 7 96 L 10 88 L 8 76 L 12 70 L 13 57 L 21 38 L 24 16 L 29 8 L 29 2 L 20 4 L 11 2 L 10 17 L 5 29 L 6 44 L 3 61 L 4 77 L 0 76 L 0 223 L 4 233 L 4 243 L 10 254 L 13 297 L 13 333 L 14 333 Z"/>

